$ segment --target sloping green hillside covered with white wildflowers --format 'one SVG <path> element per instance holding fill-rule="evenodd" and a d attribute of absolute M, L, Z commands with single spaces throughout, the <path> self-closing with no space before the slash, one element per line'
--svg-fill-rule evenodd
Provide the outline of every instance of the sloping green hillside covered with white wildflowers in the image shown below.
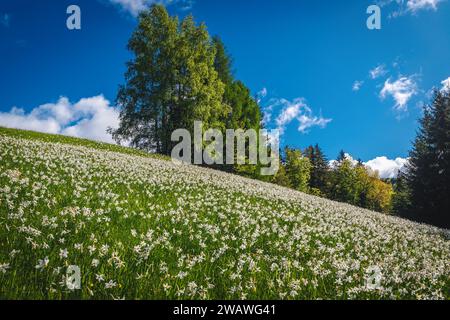
<path fill-rule="evenodd" d="M 449 261 L 437 228 L 0 128 L 0 298 L 449 299 Z M 70 265 L 81 290 L 66 286 Z"/>

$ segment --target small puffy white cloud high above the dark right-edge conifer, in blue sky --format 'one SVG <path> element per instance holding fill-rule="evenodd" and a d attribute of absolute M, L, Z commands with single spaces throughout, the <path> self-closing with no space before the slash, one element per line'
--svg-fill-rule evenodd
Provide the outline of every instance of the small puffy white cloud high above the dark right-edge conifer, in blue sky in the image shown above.
<path fill-rule="evenodd" d="M 380 92 L 382 99 L 390 95 L 395 100 L 394 109 L 397 111 L 407 111 L 408 101 L 417 94 L 417 84 L 414 80 L 414 75 L 409 77 L 400 77 L 399 79 L 391 82 L 391 79 L 387 79 L 384 82 L 383 89 Z"/>

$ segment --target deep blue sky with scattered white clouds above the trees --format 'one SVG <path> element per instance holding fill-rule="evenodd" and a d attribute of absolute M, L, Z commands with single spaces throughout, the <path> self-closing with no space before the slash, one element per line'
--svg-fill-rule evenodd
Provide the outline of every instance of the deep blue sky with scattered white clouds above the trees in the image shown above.
<path fill-rule="evenodd" d="M 107 140 L 126 43 L 151 2 L 1 1 L 0 125 Z M 319 143 L 329 158 L 398 165 L 387 158 L 407 157 L 422 104 L 450 77 L 448 0 L 385 0 L 381 30 L 366 27 L 375 0 L 166 3 L 222 37 L 284 144 Z M 81 30 L 66 28 L 71 4 Z"/>

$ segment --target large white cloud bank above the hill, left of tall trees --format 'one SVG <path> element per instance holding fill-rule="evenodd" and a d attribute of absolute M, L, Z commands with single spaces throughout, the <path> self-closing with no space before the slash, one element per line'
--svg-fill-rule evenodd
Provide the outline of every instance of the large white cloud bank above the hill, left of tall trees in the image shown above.
<path fill-rule="evenodd" d="M 17 107 L 0 112 L 0 126 L 111 143 L 106 130 L 118 127 L 118 117 L 119 111 L 103 95 L 83 98 L 74 104 L 61 97 L 56 103 L 40 105 L 29 113 Z"/>

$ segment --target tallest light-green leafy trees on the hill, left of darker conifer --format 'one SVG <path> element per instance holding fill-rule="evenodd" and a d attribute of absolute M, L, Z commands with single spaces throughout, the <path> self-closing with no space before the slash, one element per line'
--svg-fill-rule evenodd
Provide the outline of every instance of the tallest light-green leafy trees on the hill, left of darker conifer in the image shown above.
<path fill-rule="evenodd" d="M 194 121 L 205 128 L 224 128 L 229 108 L 222 103 L 224 84 L 214 69 L 216 49 L 205 25 L 192 16 L 179 23 L 161 5 L 139 15 L 128 48 L 126 84 L 119 89 L 120 127 L 117 141 L 168 155 L 172 132 L 193 132 Z"/>

